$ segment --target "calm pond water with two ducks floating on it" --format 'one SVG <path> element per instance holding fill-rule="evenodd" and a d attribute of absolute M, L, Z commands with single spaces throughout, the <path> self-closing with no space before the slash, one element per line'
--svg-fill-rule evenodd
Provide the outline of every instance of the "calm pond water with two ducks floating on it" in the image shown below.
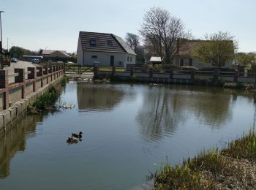
<path fill-rule="evenodd" d="M 166 157 L 182 163 L 255 126 L 254 94 L 222 88 L 68 83 L 59 101 L 75 108 L 1 134 L 0 189 L 147 189 Z"/>

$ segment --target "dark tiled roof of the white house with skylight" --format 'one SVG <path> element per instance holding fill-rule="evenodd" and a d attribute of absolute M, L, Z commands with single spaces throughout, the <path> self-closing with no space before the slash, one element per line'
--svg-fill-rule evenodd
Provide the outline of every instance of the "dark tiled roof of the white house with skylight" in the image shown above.
<path fill-rule="evenodd" d="M 117 37 L 113 34 L 80 31 L 79 37 L 83 51 L 129 53 L 136 55 L 136 53 L 127 45 L 126 42 L 124 42 L 123 39 L 121 39 L 121 37 Z M 95 39 L 97 45 L 90 46 L 90 39 Z M 111 41 L 112 45 L 108 45 L 108 41 Z"/>

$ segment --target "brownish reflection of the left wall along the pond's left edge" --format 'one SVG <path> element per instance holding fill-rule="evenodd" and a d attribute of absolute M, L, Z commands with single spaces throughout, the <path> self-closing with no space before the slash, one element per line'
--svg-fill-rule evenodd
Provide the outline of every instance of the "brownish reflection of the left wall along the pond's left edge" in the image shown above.
<path fill-rule="evenodd" d="M 10 175 L 10 161 L 15 153 L 25 151 L 26 135 L 33 137 L 37 122 L 41 122 L 43 115 L 28 116 L 17 124 L 2 132 L 0 135 L 0 178 Z"/>

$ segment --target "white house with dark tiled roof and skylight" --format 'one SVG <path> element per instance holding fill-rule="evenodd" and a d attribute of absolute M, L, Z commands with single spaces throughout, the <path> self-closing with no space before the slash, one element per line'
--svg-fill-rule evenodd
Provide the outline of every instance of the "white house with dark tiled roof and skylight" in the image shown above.
<path fill-rule="evenodd" d="M 78 64 L 124 66 L 135 64 L 136 53 L 121 37 L 114 34 L 80 31 L 78 38 Z"/>

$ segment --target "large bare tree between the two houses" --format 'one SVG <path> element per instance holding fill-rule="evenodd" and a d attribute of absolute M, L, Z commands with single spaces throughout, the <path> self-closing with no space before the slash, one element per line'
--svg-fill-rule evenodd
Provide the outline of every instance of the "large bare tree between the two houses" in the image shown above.
<path fill-rule="evenodd" d="M 154 56 L 164 58 L 166 64 L 173 62 L 178 46 L 189 37 L 181 20 L 170 16 L 170 12 L 159 7 L 153 7 L 146 12 L 140 34 L 144 42 L 151 44 L 154 53 L 157 53 Z"/>

